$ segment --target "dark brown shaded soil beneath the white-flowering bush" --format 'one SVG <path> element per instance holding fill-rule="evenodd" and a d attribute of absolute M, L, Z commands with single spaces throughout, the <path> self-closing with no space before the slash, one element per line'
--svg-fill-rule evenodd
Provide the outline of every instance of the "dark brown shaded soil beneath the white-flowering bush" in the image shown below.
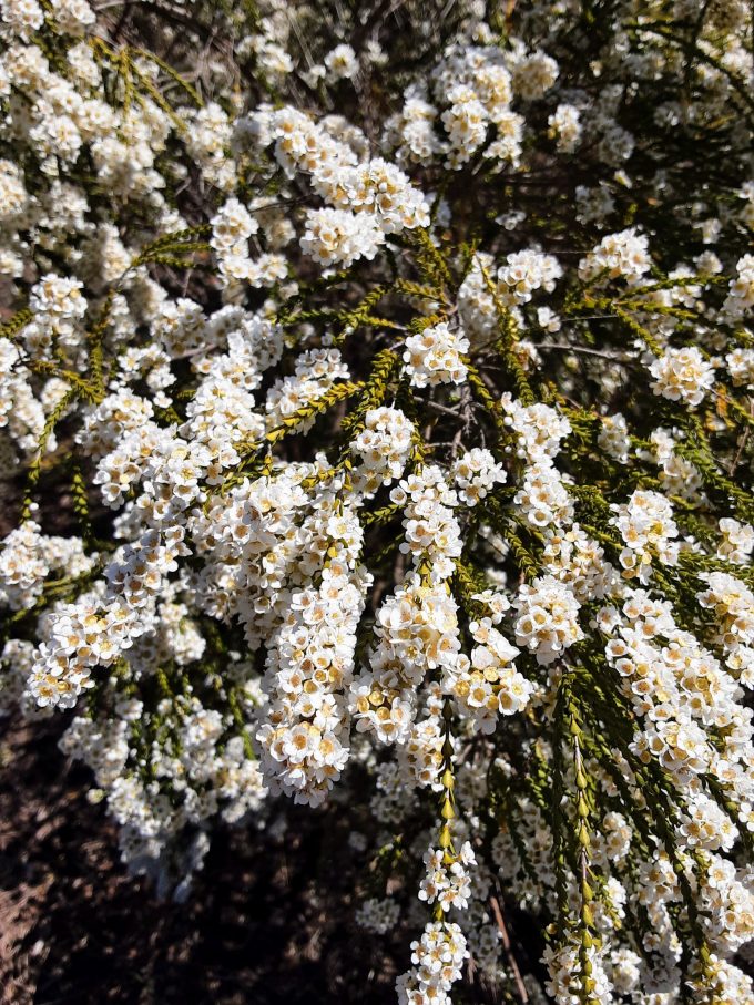
<path fill-rule="evenodd" d="M 84 797 L 89 773 L 58 751 L 59 725 L 0 728 L 2 1005 L 395 1001 L 384 940 L 353 923 L 337 808 L 291 808 L 277 841 L 221 831 L 187 903 L 159 902 L 121 865 L 114 825 Z"/>

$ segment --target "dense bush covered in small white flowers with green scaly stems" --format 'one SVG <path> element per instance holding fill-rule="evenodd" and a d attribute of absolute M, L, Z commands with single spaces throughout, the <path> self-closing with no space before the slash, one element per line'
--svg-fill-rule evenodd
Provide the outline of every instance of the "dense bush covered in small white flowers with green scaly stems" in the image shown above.
<path fill-rule="evenodd" d="M 744 0 L 0 17 L 10 714 L 162 894 L 347 800 L 400 1002 L 754 1002 Z"/>

